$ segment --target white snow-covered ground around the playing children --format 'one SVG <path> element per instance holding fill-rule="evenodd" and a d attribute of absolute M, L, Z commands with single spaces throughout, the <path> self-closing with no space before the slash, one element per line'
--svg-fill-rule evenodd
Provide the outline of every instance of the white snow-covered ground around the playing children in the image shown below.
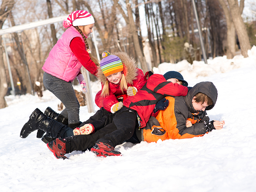
<path fill-rule="evenodd" d="M 56 159 L 36 132 L 21 139 L 20 130 L 35 108 L 57 111 L 59 100 L 48 91 L 42 98 L 7 96 L 8 107 L 0 109 L 0 191 L 256 191 L 256 47 L 248 53 L 245 59 L 224 56 L 193 65 L 183 60 L 154 68 L 159 74 L 179 71 L 189 86 L 212 81 L 218 100 L 207 113 L 226 124 L 203 137 L 124 143 L 116 147 L 122 156 L 74 151 L 69 159 Z M 95 97 L 100 85 L 91 86 Z M 81 121 L 92 115 L 87 106 L 80 108 Z"/>

